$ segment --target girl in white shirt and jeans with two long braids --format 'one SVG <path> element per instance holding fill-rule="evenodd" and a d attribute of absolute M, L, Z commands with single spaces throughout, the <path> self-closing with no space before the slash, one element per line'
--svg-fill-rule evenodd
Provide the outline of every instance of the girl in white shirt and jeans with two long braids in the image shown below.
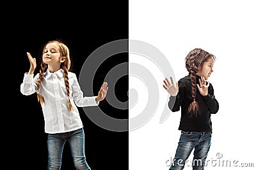
<path fill-rule="evenodd" d="M 61 169 L 63 147 L 70 146 L 76 169 L 90 169 L 84 153 L 84 129 L 77 107 L 98 106 L 108 91 L 104 82 L 97 96 L 83 96 L 75 73 L 70 69 L 70 53 L 61 41 L 49 41 L 42 52 L 40 71 L 34 77 L 36 59 L 27 53 L 30 62 L 20 92 L 26 96 L 36 92 L 42 106 L 47 133 L 47 169 Z M 35 167 L 36 169 L 36 167 Z"/>

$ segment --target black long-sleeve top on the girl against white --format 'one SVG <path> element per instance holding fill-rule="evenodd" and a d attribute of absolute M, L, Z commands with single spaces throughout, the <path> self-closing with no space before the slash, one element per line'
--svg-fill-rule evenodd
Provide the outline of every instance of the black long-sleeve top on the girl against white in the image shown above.
<path fill-rule="evenodd" d="M 196 83 L 198 84 L 199 78 L 200 76 L 196 75 Z M 173 112 L 181 109 L 179 130 L 212 132 L 211 114 L 215 114 L 219 110 L 219 103 L 215 99 L 212 84 L 210 83 L 208 87 L 207 96 L 202 96 L 196 87 L 196 101 L 199 106 L 200 115 L 191 117 L 188 112 L 189 104 L 193 101 L 191 95 L 191 78 L 189 75 L 185 76 L 178 83 L 179 92 L 176 97 L 170 96 L 168 106 Z"/>

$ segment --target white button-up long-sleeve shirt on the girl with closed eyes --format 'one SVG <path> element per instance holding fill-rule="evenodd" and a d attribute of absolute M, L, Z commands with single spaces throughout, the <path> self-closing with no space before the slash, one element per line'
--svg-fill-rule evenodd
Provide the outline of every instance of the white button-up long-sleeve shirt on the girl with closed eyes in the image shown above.
<path fill-rule="evenodd" d="M 23 82 L 20 85 L 20 92 L 26 96 L 36 92 L 36 82 L 39 73 L 24 74 Z M 38 92 L 44 96 L 45 102 L 42 104 L 44 113 L 45 132 L 49 134 L 74 131 L 83 127 L 77 107 L 98 106 L 95 96 L 84 97 L 77 81 L 75 73 L 68 72 L 68 82 L 70 87 L 70 101 L 72 111 L 67 106 L 67 90 L 63 76 L 63 69 L 51 73 L 48 69 L 44 73 L 42 83 Z"/>

